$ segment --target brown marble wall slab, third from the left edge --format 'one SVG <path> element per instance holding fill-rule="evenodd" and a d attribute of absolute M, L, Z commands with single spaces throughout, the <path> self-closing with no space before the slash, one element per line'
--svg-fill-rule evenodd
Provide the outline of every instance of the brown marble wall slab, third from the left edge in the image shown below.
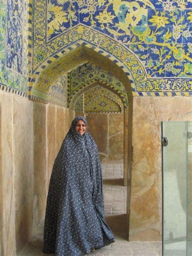
<path fill-rule="evenodd" d="M 34 209 L 33 230 L 45 217 L 46 204 L 46 105 L 33 102 Z"/>

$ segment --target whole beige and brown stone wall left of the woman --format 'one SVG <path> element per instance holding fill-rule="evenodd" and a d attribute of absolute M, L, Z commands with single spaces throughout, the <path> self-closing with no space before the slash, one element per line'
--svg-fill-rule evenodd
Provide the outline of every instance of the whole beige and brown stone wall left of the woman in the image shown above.
<path fill-rule="evenodd" d="M 16 255 L 45 216 L 49 178 L 74 111 L 0 91 L 2 255 Z"/>

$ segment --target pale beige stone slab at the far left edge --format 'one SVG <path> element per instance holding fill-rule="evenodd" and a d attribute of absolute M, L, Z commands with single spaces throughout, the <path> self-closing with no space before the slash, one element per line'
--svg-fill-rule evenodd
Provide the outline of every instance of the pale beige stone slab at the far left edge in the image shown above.
<path fill-rule="evenodd" d="M 16 255 L 15 247 L 15 170 L 13 163 L 13 94 L 0 92 L 2 110 L 2 220 L 1 250 Z M 3 225 L 2 225 L 3 224 Z"/>

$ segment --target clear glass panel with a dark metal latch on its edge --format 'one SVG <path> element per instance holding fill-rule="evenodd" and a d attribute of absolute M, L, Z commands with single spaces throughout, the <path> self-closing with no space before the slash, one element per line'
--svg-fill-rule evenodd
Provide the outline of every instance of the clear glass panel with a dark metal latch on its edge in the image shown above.
<path fill-rule="evenodd" d="M 163 256 L 187 255 L 186 122 L 162 122 Z"/>

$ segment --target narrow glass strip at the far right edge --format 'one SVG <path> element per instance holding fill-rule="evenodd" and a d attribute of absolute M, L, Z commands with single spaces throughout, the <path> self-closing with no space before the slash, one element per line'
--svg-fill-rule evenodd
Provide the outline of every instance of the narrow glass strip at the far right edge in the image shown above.
<path fill-rule="evenodd" d="M 187 224 L 187 256 L 192 256 L 192 122 L 187 124 L 188 142 L 188 224 Z"/>

